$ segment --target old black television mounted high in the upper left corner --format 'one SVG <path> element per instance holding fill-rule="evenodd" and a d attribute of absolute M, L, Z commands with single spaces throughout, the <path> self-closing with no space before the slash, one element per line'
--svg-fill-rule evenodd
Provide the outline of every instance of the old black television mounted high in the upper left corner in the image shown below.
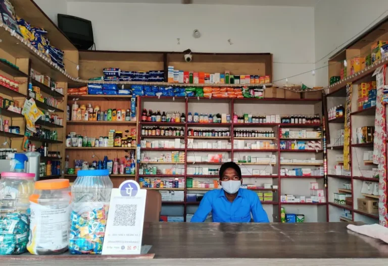
<path fill-rule="evenodd" d="M 87 50 L 94 43 L 93 29 L 89 20 L 58 14 L 58 27 L 78 49 Z"/>

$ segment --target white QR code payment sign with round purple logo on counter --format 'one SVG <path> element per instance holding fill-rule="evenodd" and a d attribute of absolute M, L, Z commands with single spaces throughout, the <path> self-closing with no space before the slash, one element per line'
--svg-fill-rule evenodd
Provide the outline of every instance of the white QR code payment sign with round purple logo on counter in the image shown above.
<path fill-rule="evenodd" d="M 140 254 L 146 196 L 133 180 L 112 189 L 103 255 Z"/>

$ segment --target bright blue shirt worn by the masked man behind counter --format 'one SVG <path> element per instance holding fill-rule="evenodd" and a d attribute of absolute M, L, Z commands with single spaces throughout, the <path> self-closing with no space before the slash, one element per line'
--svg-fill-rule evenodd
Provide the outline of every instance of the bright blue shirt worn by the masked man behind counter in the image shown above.
<path fill-rule="evenodd" d="M 210 190 L 204 195 L 191 222 L 204 222 L 212 212 L 215 223 L 249 223 L 251 212 L 256 223 L 269 223 L 259 196 L 252 190 L 239 188 L 233 202 L 229 202 L 223 189 Z"/>

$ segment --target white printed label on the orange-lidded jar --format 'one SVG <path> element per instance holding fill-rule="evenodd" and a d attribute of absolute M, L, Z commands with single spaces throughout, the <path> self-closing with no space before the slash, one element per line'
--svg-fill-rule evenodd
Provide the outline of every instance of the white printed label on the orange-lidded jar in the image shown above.
<path fill-rule="evenodd" d="M 31 203 L 30 237 L 27 249 L 37 253 L 37 247 L 59 250 L 68 246 L 71 206 L 52 209 Z"/>

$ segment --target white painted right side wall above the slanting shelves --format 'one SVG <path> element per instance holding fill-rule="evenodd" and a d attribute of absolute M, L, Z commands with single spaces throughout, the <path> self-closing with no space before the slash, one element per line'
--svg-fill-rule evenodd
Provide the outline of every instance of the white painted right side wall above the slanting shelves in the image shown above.
<path fill-rule="evenodd" d="M 319 60 L 316 68 L 322 69 L 316 71 L 316 84 L 328 85 L 327 60 L 331 55 L 357 38 L 354 36 L 359 36 L 387 15 L 386 0 L 318 2 L 314 9 L 315 60 Z"/>

